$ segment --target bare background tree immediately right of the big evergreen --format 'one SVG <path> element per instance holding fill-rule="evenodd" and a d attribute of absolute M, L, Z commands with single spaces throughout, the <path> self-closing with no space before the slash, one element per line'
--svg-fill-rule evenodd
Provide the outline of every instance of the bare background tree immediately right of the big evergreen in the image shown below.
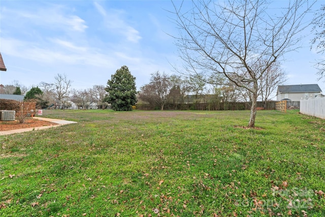
<path fill-rule="evenodd" d="M 170 76 L 165 73 L 160 74 L 157 71 L 151 74 L 150 83 L 140 88 L 139 99 L 157 105 L 161 110 L 164 110 L 171 88 Z"/>

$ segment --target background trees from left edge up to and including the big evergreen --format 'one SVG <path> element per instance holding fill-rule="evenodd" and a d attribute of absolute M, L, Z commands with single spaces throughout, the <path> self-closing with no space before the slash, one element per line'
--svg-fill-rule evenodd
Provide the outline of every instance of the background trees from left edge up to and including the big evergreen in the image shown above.
<path fill-rule="evenodd" d="M 86 109 L 90 103 L 98 108 L 106 108 L 108 104 L 117 111 L 132 110 L 137 102 L 135 77 L 131 75 L 126 66 L 122 66 L 108 80 L 107 86 L 93 85 L 87 89 L 72 88 L 73 81 L 65 74 L 54 76 L 54 82 L 41 82 L 28 91 L 17 91 L 23 86 L 15 81 L 14 85 L 2 85 L 2 94 L 23 95 L 24 100 L 36 100 L 39 108 L 66 109 L 74 103 L 78 108 Z M 24 89 L 26 89 L 24 87 Z"/>

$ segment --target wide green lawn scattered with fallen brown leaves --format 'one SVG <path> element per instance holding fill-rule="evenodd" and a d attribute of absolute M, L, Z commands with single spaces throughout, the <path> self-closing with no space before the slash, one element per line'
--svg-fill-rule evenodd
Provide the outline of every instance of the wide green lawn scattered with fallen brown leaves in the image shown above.
<path fill-rule="evenodd" d="M 258 111 L 45 111 L 0 136 L 0 216 L 325 216 L 325 120 Z"/>

